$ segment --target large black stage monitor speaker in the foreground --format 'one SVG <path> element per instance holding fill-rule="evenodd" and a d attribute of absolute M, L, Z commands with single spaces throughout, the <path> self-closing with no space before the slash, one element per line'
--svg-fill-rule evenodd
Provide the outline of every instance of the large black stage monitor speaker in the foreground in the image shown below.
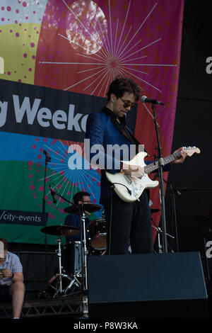
<path fill-rule="evenodd" d="M 199 252 L 88 257 L 89 318 L 206 317 Z"/>

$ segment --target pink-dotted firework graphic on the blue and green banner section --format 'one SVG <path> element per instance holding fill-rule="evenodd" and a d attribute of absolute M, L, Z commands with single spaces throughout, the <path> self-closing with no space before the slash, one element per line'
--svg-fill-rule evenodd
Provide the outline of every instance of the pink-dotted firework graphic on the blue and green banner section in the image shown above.
<path fill-rule="evenodd" d="M 31 145 L 33 160 L 29 162 L 28 179 L 34 199 L 45 190 L 45 202 L 51 208 L 49 218 L 54 220 L 55 210 L 64 213 L 73 195 L 78 191 L 90 193 L 91 201 L 98 202 L 100 196 L 100 173 L 83 158 L 83 143 L 33 137 Z M 44 153 L 49 157 L 47 175 L 44 173 Z M 37 160 L 37 161 L 36 161 Z M 34 162 L 33 162 L 34 161 Z M 35 162 L 36 161 L 36 162 Z M 81 168 L 79 168 L 81 166 Z M 42 169 L 41 169 L 42 168 Z M 36 170 L 37 169 L 37 170 Z M 57 203 L 53 203 L 49 186 L 55 191 Z M 67 201 L 66 201 L 67 200 Z M 39 203 L 42 208 L 42 203 Z"/>

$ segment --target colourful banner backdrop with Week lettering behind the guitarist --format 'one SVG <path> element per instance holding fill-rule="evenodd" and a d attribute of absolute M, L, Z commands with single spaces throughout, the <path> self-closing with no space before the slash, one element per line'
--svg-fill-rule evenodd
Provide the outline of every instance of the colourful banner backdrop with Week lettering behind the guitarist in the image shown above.
<path fill-rule="evenodd" d="M 73 164 L 76 156 L 88 163 L 86 120 L 105 105 L 117 75 L 165 103 L 156 111 L 163 154 L 170 154 L 183 7 L 183 0 L 1 0 L 1 237 L 39 244 L 41 225 L 64 223 L 67 203 L 59 196 L 52 202 L 49 184 L 67 200 L 89 191 L 99 203 L 100 171 Z M 150 105 L 139 103 L 129 125 L 152 159 L 157 142 Z M 78 151 L 70 149 L 75 143 Z M 151 201 L 160 207 L 158 188 Z M 47 219 L 40 215 L 44 203 Z M 54 239 L 47 237 L 51 244 Z"/>

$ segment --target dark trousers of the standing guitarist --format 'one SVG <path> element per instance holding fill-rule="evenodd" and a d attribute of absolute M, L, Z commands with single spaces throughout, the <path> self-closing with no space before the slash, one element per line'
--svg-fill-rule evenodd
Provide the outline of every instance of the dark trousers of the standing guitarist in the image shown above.
<path fill-rule="evenodd" d="M 129 241 L 133 254 L 153 253 L 151 211 L 143 191 L 140 201 L 126 203 L 112 191 L 102 201 L 107 221 L 107 254 L 127 254 Z"/>

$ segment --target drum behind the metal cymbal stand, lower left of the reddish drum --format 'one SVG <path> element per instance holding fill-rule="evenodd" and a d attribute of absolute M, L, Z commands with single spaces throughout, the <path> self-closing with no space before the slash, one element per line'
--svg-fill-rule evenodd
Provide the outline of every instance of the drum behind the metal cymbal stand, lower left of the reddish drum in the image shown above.
<path fill-rule="evenodd" d="M 64 244 L 64 270 L 71 276 L 81 276 L 81 242 Z"/>

